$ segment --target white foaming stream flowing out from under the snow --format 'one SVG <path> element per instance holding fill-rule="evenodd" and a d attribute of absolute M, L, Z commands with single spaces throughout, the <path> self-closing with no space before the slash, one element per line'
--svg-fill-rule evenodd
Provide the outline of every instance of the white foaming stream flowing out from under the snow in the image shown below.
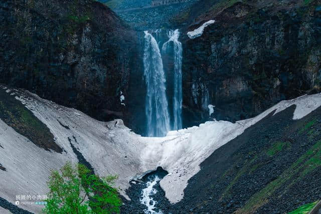
<path fill-rule="evenodd" d="M 156 201 L 153 200 L 151 195 L 155 194 L 157 190 L 153 188 L 154 185 L 156 185 L 157 181 L 161 180 L 157 175 L 152 177 L 147 183 L 146 183 L 146 188 L 142 189 L 141 191 L 141 197 L 140 197 L 140 203 L 145 204 L 147 206 L 146 209 L 144 209 L 145 213 L 148 214 L 161 214 L 163 213 L 161 210 L 156 212 L 155 209 L 155 204 Z"/>

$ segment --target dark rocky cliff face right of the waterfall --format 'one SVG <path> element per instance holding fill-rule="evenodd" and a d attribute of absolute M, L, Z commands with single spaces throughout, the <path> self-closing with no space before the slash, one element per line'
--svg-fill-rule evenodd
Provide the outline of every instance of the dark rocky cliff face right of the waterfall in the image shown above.
<path fill-rule="evenodd" d="M 209 104 L 212 116 L 235 121 L 320 90 L 320 1 L 224 3 L 184 15 L 194 20 L 182 35 L 185 126 L 208 119 Z M 187 37 L 208 20 L 201 37 Z"/>

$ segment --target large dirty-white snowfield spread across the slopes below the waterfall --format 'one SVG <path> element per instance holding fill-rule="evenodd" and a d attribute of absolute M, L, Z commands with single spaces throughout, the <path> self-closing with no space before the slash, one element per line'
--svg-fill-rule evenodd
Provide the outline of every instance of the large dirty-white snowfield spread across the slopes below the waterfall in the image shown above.
<path fill-rule="evenodd" d="M 51 168 L 61 167 L 67 160 L 77 162 L 68 137 L 101 176 L 118 174 L 116 186 L 127 199 L 125 190 L 129 178 L 140 176 L 162 166 L 169 174 L 161 181 L 166 197 L 180 201 L 188 180 L 200 170 L 202 163 L 217 148 L 242 134 L 244 130 L 276 110 L 282 111 L 295 104 L 293 119 L 299 119 L 321 106 L 321 94 L 302 96 L 282 101 L 260 115 L 231 123 L 211 121 L 178 131 L 170 131 L 166 137 L 141 137 L 124 126 L 122 120 L 101 122 L 75 109 L 57 105 L 26 91 L 16 97 L 38 117 L 55 137 L 56 143 L 67 152 L 48 152 L 35 146 L 26 137 L 15 132 L 0 120 L 0 163 L 7 168 L 0 173 L 0 193 L 10 202 L 17 194 L 46 193 L 46 181 Z M 57 119 L 64 121 L 66 129 Z M 116 125 L 115 125 L 116 124 Z M 74 141 L 73 136 L 77 139 Z M 124 158 L 126 154 L 127 158 Z M 178 172 L 178 173 L 176 173 Z M 181 175 L 179 177 L 179 175 Z M 21 205 L 38 213 L 41 207 Z"/>

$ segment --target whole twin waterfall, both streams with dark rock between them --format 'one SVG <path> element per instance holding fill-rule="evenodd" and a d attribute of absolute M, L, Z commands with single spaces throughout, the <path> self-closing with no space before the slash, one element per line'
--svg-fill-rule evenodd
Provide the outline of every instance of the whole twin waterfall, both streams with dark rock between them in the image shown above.
<path fill-rule="evenodd" d="M 167 31 L 167 42 L 162 46 L 161 30 L 144 32 L 144 81 L 146 84 L 145 116 L 146 135 L 166 136 L 170 130 L 182 129 L 182 43 L 179 30 Z M 152 35 L 154 34 L 155 37 Z M 158 41 L 157 41 L 158 40 Z M 164 61 L 172 57 L 174 68 L 167 68 Z M 173 77 L 173 87 L 169 90 L 167 79 Z"/>

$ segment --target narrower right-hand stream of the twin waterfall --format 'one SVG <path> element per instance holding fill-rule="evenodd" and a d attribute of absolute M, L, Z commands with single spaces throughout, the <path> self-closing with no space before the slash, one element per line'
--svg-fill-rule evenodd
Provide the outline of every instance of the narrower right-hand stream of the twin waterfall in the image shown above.
<path fill-rule="evenodd" d="M 173 130 L 182 129 L 182 43 L 179 42 L 180 32 L 168 31 L 169 41 L 164 43 L 162 52 L 166 54 L 172 48 L 174 53 L 174 97 L 173 97 L 173 115 L 174 121 L 172 125 Z M 173 46 L 171 45 L 173 42 Z"/>

